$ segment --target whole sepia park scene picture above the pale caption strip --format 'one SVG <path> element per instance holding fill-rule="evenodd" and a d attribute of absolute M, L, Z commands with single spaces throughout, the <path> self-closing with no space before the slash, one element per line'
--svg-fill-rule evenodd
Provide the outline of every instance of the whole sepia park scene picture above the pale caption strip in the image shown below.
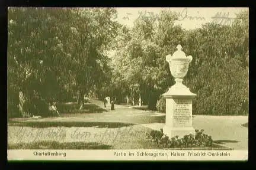
<path fill-rule="evenodd" d="M 248 151 L 248 115 L 248 8 L 8 8 L 8 150 Z"/>

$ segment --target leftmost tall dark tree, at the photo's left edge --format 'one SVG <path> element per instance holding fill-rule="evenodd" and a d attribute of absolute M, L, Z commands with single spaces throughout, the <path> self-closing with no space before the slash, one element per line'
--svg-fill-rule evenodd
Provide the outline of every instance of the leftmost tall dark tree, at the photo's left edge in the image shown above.
<path fill-rule="evenodd" d="M 22 91 L 31 108 L 35 91 L 48 102 L 59 93 L 66 61 L 59 39 L 63 21 L 56 18 L 61 12 L 69 15 L 51 8 L 9 8 L 7 81 L 8 91 L 16 94 L 8 93 L 8 100 Z"/>

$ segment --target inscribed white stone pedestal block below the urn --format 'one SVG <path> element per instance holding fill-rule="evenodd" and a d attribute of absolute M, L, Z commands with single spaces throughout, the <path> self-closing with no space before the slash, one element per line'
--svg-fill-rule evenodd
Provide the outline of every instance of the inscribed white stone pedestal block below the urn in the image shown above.
<path fill-rule="evenodd" d="M 163 131 L 165 135 L 172 138 L 195 133 L 192 126 L 192 99 L 196 94 L 168 94 L 165 93 L 166 98 L 166 120 Z"/>

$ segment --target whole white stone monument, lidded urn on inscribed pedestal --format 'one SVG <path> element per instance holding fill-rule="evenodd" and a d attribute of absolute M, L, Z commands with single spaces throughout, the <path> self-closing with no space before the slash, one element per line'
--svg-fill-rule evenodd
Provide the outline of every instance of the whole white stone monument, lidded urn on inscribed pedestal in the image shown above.
<path fill-rule="evenodd" d="M 184 135 L 195 133 L 192 126 L 192 100 L 196 94 L 191 93 L 190 89 L 182 83 L 193 58 L 191 55 L 186 56 L 181 48 L 181 45 L 178 45 L 173 55 L 166 56 L 169 69 L 175 79 L 175 84 L 167 93 L 162 94 L 166 100 L 166 120 L 163 131 L 169 138 L 177 135 L 182 138 Z"/>

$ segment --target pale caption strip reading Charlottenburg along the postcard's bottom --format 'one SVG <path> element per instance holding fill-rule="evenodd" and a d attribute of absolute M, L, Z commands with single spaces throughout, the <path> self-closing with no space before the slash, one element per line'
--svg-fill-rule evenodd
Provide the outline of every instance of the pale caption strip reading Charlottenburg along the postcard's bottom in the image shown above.
<path fill-rule="evenodd" d="M 10 149 L 7 158 L 8 161 L 247 161 L 248 151 Z"/>

